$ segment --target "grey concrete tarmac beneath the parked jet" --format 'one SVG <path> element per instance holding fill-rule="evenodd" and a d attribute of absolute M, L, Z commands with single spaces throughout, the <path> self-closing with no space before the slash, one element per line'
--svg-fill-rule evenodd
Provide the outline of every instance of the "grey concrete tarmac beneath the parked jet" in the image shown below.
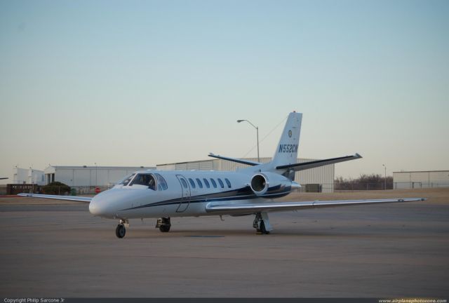
<path fill-rule="evenodd" d="M 87 204 L 0 198 L 0 294 L 447 299 L 449 191 L 442 197 L 273 213 L 269 235 L 255 234 L 253 216 L 172 218 L 167 234 L 131 220 L 123 239 Z"/>

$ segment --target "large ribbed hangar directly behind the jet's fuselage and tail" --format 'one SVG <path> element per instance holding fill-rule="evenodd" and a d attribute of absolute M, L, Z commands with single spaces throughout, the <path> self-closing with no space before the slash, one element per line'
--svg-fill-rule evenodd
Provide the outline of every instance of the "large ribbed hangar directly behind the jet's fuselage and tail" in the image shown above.
<path fill-rule="evenodd" d="M 256 161 L 257 158 L 246 158 L 245 160 Z M 315 161 L 316 159 L 297 159 L 297 163 Z M 272 158 L 260 158 L 260 162 L 267 163 Z M 160 164 L 156 168 L 159 170 L 236 170 L 236 168 L 246 168 L 246 164 L 226 161 L 222 159 L 208 159 L 202 161 L 190 161 L 180 163 Z M 299 182 L 302 191 L 306 191 L 307 184 L 319 184 L 322 192 L 334 191 L 335 164 L 301 170 L 295 174 L 295 182 Z"/>

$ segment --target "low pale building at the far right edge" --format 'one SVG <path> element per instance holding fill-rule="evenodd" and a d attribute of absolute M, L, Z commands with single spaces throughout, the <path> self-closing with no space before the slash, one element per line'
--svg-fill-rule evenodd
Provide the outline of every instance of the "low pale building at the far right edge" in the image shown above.
<path fill-rule="evenodd" d="M 393 172 L 394 189 L 449 187 L 449 170 Z"/>

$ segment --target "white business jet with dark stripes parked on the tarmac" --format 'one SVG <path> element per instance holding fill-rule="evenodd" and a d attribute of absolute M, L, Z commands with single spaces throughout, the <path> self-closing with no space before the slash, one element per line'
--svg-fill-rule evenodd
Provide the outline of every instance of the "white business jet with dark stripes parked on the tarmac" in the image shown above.
<path fill-rule="evenodd" d="M 300 188 L 295 172 L 328 164 L 360 159 L 359 154 L 339 158 L 296 163 L 302 114 L 288 115 L 274 157 L 269 163 L 234 159 L 216 154 L 209 156 L 248 165 L 234 172 L 200 170 L 138 170 L 126 176 L 112 189 L 94 197 L 19 194 L 37 198 L 54 198 L 89 203 L 89 211 L 98 217 L 120 220 L 116 236 L 123 238 L 130 219 L 157 218 L 156 228 L 170 231 L 170 217 L 210 215 L 254 215 L 257 234 L 273 230 L 269 213 L 355 206 L 373 203 L 422 201 L 424 198 L 391 198 L 376 200 L 276 202 Z"/>

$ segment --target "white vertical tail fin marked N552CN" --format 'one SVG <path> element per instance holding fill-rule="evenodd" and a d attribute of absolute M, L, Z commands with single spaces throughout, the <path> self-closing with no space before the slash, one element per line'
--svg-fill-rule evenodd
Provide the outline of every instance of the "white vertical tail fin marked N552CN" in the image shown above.
<path fill-rule="evenodd" d="M 274 152 L 272 167 L 293 164 L 297 162 L 297 149 L 300 144 L 302 114 L 288 114 L 286 126 L 283 128 L 281 140 Z"/>

